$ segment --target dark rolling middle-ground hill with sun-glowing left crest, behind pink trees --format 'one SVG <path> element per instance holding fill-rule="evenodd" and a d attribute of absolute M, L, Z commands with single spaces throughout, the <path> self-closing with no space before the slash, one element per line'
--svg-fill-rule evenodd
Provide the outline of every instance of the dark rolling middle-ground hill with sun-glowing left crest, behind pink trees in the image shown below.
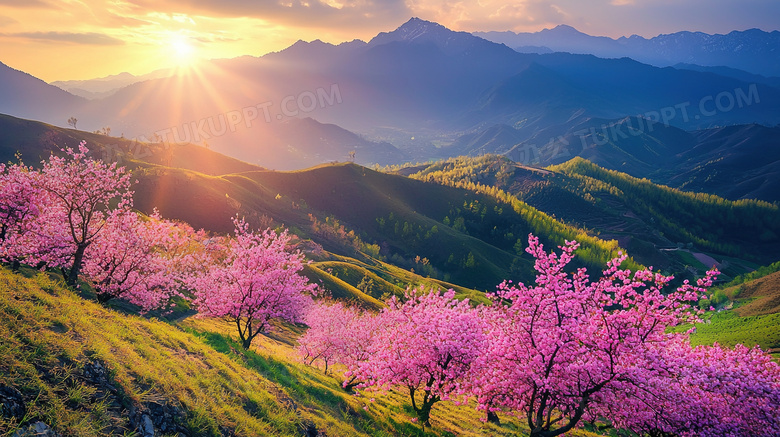
<path fill-rule="evenodd" d="M 546 243 L 587 238 L 525 204 L 352 163 L 269 171 L 200 146 L 136 143 L 12 117 L 0 123 L 7 127 L 0 135 L 5 160 L 20 152 L 36 164 L 84 138 L 96 157 L 133 170 L 135 206 L 142 212 L 158 208 L 165 217 L 214 232 L 229 232 L 236 214 L 254 226 L 288 227 L 325 249 L 317 261 L 346 257 L 400 288 L 439 280 L 439 286 L 465 287 L 459 289 L 463 294 L 492 290 L 506 278 L 532 278 L 530 258 L 521 249 L 530 232 Z M 592 267 L 618 250 L 597 238 L 583 243 Z"/>

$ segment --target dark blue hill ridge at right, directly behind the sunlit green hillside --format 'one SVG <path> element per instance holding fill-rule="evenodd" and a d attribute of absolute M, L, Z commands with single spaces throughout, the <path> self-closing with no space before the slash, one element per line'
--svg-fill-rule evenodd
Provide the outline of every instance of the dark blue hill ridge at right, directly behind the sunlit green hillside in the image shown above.
<path fill-rule="evenodd" d="M 678 114 L 679 116 L 679 114 Z M 780 201 L 780 128 L 759 124 L 694 131 L 645 117 L 582 119 L 532 137 L 497 124 L 442 147 L 448 156 L 504 155 L 520 164 L 561 164 L 573 157 L 686 191 L 731 200 Z"/>

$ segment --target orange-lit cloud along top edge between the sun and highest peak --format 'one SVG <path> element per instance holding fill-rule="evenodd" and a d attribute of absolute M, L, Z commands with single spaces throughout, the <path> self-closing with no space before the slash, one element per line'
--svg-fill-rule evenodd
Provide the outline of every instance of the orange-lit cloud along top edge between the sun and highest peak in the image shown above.
<path fill-rule="evenodd" d="M 0 0 L 2 1 L 2 0 Z M 249 17 L 307 28 L 375 28 L 412 16 L 404 0 L 127 0 L 135 13 Z"/>

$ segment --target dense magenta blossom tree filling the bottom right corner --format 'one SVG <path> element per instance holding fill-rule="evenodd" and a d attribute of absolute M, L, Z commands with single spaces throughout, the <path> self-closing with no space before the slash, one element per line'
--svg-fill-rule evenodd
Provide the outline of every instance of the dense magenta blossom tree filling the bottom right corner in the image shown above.
<path fill-rule="evenodd" d="M 697 346 L 668 334 L 589 420 L 647 435 L 773 436 L 780 429 L 780 366 L 759 348 Z M 648 371 L 651 369 L 651 371 Z"/>

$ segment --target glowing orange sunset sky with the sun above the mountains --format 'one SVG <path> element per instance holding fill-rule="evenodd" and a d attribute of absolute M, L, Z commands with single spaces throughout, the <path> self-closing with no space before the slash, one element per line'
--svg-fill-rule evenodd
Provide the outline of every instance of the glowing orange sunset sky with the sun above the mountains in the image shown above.
<path fill-rule="evenodd" d="M 468 32 L 780 30 L 778 0 L 0 0 L 0 62 L 47 82 L 369 40 L 411 17 Z"/>

